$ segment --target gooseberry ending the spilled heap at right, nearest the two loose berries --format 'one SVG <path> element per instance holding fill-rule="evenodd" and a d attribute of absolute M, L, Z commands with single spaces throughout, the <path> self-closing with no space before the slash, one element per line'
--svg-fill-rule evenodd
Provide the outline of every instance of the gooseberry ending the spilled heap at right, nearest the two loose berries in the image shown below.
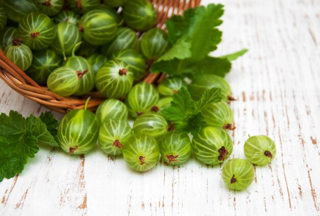
<path fill-rule="evenodd" d="M 192 149 L 198 160 L 205 164 L 219 164 L 232 154 L 231 137 L 217 127 L 204 127 L 192 139 Z"/>

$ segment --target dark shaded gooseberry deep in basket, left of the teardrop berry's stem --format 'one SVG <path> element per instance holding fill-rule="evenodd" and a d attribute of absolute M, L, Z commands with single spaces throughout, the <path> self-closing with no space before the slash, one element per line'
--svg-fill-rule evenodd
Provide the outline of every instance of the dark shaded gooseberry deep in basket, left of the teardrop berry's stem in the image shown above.
<path fill-rule="evenodd" d="M 47 79 L 53 70 L 61 66 L 61 58 L 53 50 L 39 50 L 33 52 L 31 66 L 27 75 L 40 85 L 47 84 Z"/>

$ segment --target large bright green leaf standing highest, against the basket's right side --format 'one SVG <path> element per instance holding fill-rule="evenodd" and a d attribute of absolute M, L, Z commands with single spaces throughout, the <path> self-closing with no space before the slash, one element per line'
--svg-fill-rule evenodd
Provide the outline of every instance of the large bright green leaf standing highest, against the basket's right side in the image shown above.
<path fill-rule="evenodd" d="M 172 48 L 155 61 L 152 73 L 164 71 L 169 75 L 184 74 L 190 67 L 201 64 L 211 51 L 217 49 L 222 32 L 216 29 L 222 21 L 222 5 L 200 6 L 185 11 L 184 16 L 173 16 L 167 22 Z M 230 68 L 225 69 L 230 70 Z M 195 72 L 196 73 L 196 70 Z"/>

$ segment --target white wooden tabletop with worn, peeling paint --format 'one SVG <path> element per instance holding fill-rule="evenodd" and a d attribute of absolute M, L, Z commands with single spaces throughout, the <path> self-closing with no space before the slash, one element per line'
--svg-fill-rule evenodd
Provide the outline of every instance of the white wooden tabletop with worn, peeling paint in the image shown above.
<path fill-rule="evenodd" d="M 22 174 L 0 183 L 0 215 L 320 215 L 320 1 L 223 4 L 217 55 L 249 49 L 227 76 L 238 99 L 231 158 L 244 158 L 248 134 L 270 136 L 278 151 L 248 189 L 227 189 L 222 166 L 194 158 L 139 174 L 98 147 L 79 157 L 41 146 Z M 10 109 L 46 110 L 0 80 L 0 111 Z"/>

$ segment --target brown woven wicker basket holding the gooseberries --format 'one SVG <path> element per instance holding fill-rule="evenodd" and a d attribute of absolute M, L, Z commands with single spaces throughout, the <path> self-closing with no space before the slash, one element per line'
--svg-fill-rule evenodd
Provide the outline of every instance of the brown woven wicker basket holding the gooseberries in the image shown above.
<path fill-rule="evenodd" d="M 158 11 L 157 28 L 165 29 L 165 21 L 173 14 L 181 14 L 188 8 L 200 5 L 201 0 L 151 0 Z M 0 78 L 3 79 L 12 89 L 24 97 L 41 104 L 51 110 L 65 113 L 72 109 L 84 107 L 87 97 L 92 99 L 88 103 L 88 109 L 95 110 L 105 100 L 99 92 L 90 92 L 82 97 L 61 97 L 48 91 L 47 87 L 39 86 L 24 71 L 13 64 L 0 50 Z M 164 74 L 147 74 L 144 82 L 153 83 L 155 80 L 161 82 Z"/>

